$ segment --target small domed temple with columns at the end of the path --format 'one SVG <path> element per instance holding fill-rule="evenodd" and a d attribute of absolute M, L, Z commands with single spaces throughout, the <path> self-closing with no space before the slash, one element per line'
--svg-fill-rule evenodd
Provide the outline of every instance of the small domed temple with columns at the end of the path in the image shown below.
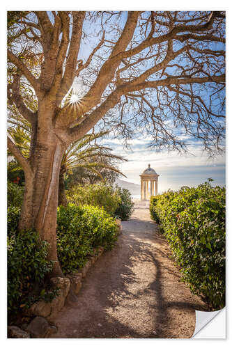
<path fill-rule="evenodd" d="M 141 175 L 141 200 L 149 200 L 150 196 L 157 196 L 158 193 L 158 175 L 155 169 L 148 168 L 145 169 Z"/>

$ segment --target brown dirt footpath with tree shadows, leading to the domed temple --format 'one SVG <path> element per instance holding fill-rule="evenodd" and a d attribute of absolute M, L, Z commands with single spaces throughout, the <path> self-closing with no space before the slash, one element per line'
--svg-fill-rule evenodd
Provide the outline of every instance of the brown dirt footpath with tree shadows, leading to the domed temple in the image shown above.
<path fill-rule="evenodd" d="M 180 282 L 169 246 L 135 209 L 116 247 L 103 253 L 83 280 L 78 303 L 65 306 L 51 338 L 190 338 L 195 310 L 207 310 Z"/>

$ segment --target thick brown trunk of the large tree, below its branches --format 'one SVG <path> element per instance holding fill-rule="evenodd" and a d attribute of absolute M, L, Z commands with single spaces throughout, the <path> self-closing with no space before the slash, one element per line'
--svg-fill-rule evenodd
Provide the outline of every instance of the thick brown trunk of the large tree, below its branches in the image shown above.
<path fill-rule="evenodd" d="M 56 252 L 56 216 L 59 171 L 65 148 L 51 133 L 42 140 L 37 141 L 33 153 L 33 175 L 26 175 L 19 228 L 35 228 L 40 238 L 49 243 L 48 260 L 54 261 L 52 276 L 63 276 Z"/>

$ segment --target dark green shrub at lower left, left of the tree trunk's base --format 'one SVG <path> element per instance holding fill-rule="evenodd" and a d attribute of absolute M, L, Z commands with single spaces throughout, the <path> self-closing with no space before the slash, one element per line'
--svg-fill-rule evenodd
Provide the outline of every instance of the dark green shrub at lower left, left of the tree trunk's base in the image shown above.
<path fill-rule="evenodd" d="M 52 299 L 56 292 L 31 294 L 52 270 L 47 261 L 47 242 L 42 242 L 38 233 L 29 230 L 8 237 L 8 315 L 16 315 L 20 308 L 29 307 L 38 299 Z"/>

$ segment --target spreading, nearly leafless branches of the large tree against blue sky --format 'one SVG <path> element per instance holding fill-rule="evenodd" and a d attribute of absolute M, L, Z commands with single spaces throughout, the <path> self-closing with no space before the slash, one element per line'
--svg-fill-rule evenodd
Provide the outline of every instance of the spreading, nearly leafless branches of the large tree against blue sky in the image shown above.
<path fill-rule="evenodd" d="M 20 78 L 39 97 L 54 98 L 52 121 L 67 143 L 103 118 L 101 126 L 114 125 L 118 136 L 130 138 L 135 129 L 151 134 L 157 149 L 184 149 L 185 138 L 194 137 L 208 151 L 222 150 L 222 11 L 35 11 L 11 17 L 10 100 L 30 122 L 38 116 L 20 98 Z M 62 106 L 74 81 L 77 93 Z"/>

